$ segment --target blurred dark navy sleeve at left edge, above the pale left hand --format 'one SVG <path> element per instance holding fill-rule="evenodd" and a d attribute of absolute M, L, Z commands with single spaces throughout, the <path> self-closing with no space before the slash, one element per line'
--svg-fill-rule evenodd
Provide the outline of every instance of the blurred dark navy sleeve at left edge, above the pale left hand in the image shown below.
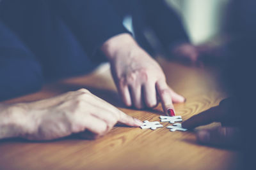
<path fill-rule="evenodd" d="M 42 81 L 33 54 L 0 21 L 0 101 L 35 92 Z"/>

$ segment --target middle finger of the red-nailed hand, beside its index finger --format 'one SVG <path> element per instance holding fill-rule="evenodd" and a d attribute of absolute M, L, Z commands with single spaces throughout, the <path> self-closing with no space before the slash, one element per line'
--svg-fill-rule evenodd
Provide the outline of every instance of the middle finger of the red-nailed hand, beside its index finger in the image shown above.
<path fill-rule="evenodd" d="M 143 85 L 144 100 L 148 108 L 157 106 L 156 83 L 147 83 Z"/>

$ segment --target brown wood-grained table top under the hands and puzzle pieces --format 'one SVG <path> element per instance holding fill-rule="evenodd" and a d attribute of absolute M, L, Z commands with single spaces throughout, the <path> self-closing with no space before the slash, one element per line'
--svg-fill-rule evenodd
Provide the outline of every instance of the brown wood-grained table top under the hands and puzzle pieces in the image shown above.
<path fill-rule="evenodd" d="M 187 98 L 175 104 L 184 120 L 216 106 L 225 93 L 218 86 L 214 69 L 187 67 L 157 59 L 166 73 L 168 84 Z M 109 67 L 88 75 L 59 81 L 35 94 L 8 101 L 34 101 L 56 96 L 81 87 L 140 120 L 159 121 L 161 106 L 154 110 L 125 108 L 116 94 Z M 163 123 L 164 127 L 168 123 Z M 103 138 L 83 140 L 66 138 L 51 142 L 19 139 L 0 141 L 0 169 L 234 169 L 239 152 L 201 146 L 195 132 L 156 131 L 132 127 L 114 127 Z"/>

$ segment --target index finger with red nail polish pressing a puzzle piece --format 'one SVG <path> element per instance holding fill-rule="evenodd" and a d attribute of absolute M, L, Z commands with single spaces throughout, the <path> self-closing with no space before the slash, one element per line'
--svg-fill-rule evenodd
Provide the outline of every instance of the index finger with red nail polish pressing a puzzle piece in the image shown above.
<path fill-rule="evenodd" d="M 168 116 L 174 116 L 175 111 L 172 104 L 172 92 L 170 91 L 168 85 L 166 85 L 165 81 L 158 81 L 156 83 L 156 89 L 161 99 L 164 113 L 166 113 Z"/>

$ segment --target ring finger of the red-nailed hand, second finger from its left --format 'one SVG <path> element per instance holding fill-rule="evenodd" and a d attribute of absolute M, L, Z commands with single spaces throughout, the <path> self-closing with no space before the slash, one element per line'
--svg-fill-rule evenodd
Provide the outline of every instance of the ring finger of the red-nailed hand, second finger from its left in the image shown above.
<path fill-rule="evenodd" d="M 143 101 L 142 101 L 142 95 L 141 95 L 141 86 L 140 85 L 131 85 L 129 86 L 130 91 L 131 91 L 131 96 L 132 96 L 132 104 L 138 108 L 142 109 L 143 108 Z"/>

